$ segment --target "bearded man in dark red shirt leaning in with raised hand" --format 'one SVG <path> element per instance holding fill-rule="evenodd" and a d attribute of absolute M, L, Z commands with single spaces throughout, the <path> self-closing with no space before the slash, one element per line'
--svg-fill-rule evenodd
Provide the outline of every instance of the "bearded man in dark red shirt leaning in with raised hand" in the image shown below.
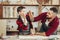
<path fill-rule="evenodd" d="M 42 35 L 42 36 L 49 36 L 53 34 L 59 25 L 59 20 L 56 14 L 58 13 L 58 10 L 55 7 L 50 8 L 48 12 L 41 13 L 37 17 L 33 17 L 32 13 L 30 11 L 30 19 L 33 22 L 41 21 L 42 23 L 42 30 L 43 32 L 39 32 L 36 34 Z M 47 22 L 48 21 L 48 22 Z"/>

